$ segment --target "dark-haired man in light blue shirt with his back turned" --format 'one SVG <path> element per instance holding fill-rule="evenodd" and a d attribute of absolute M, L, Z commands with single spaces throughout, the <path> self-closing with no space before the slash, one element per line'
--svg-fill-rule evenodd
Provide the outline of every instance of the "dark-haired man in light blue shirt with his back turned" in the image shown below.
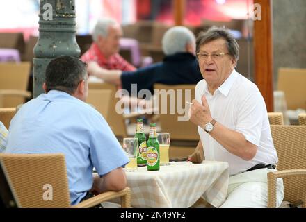
<path fill-rule="evenodd" d="M 46 94 L 22 105 L 8 132 L 5 153 L 64 153 L 70 201 L 127 186 L 122 166 L 129 162 L 111 128 L 88 96 L 86 63 L 71 56 L 49 62 Z M 92 178 L 95 167 L 100 177 Z"/>

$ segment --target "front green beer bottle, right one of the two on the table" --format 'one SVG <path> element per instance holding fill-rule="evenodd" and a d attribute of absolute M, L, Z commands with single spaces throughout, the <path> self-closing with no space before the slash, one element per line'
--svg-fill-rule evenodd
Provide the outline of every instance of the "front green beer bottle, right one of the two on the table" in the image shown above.
<path fill-rule="evenodd" d="M 147 140 L 147 170 L 159 170 L 159 141 L 156 135 L 156 124 L 150 124 L 150 135 Z"/>

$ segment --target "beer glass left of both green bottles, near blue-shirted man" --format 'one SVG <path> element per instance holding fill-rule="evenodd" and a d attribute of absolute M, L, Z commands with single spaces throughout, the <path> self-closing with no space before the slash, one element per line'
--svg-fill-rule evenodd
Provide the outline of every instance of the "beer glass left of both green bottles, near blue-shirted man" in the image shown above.
<path fill-rule="evenodd" d="M 123 138 L 123 149 L 129 157 L 129 163 L 125 165 L 125 171 L 133 172 L 138 171 L 137 169 L 137 149 L 138 139 L 137 138 Z"/>

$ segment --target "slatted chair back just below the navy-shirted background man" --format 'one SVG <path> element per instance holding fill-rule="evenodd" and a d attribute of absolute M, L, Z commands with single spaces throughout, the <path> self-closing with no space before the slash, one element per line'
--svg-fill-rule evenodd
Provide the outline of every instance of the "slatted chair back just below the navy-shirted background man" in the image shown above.
<path fill-rule="evenodd" d="M 159 89 L 159 121 L 161 123 L 161 131 L 169 132 L 171 139 L 177 140 L 199 140 L 200 137 L 198 135 L 198 128 L 195 124 L 191 123 L 191 121 L 178 121 L 178 117 L 183 117 L 185 112 L 188 112 L 189 105 L 186 104 L 186 101 L 191 102 L 195 98 L 195 85 L 163 85 L 163 84 L 154 84 L 154 89 Z M 165 97 L 166 93 L 161 91 L 165 89 L 168 93 L 172 94 L 171 96 Z M 179 93 L 179 92 L 182 92 Z M 188 94 L 190 93 L 190 98 L 188 98 Z M 173 95 L 175 95 L 173 97 Z M 182 96 L 179 96 L 182 95 Z M 179 98 L 181 97 L 181 98 Z M 163 103 L 163 98 L 166 98 L 166 104 Z M 167 107 L 166 113 L 163 113 L 162 106 Z M 179 114 L 178 107 L 183 108 L 185 111 L 183 114 Z M 173 109 L 175 113 L 170 113 L 171 109 Z"/>

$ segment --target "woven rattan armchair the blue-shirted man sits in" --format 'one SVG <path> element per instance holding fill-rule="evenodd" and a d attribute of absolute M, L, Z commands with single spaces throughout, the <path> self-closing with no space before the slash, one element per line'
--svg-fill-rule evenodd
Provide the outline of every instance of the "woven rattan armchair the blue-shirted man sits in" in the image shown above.
<path fill-rule="evenodd" d="M 87 208 L 113 198 L 121 198 L 121 207 L 131 206 L 129 187 L 118 192 L 108 191 L 71 206 L 63 154 L 0 153 L 0 161 L 19 207 Z"/>

